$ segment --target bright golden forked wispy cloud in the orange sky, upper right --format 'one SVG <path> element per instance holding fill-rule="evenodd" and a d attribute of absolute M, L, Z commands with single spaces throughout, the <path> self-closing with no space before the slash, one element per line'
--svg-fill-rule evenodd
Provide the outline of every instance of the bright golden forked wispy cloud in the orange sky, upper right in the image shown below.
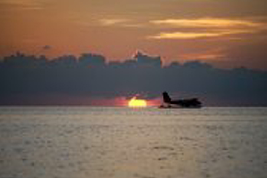
<path fill-rule="evenodd" d="M 150 24 L 163 29 L 148 39 L 198 39 L 253 34 L 266 28 L 265 23 L 248 19 L 197 18 L 151 20 Z M 169 32 L 168 29 L 171 29 Z M 185 32 L 186 29 L 186 32 Z"/>

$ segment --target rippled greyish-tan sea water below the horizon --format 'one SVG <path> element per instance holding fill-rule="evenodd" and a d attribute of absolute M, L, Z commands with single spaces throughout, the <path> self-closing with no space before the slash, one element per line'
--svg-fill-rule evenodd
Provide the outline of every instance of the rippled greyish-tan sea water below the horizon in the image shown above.
<path fill-rule="evenodd" d="M 1 178 L 266 178 L 267 108 L 0 107 Z"/>

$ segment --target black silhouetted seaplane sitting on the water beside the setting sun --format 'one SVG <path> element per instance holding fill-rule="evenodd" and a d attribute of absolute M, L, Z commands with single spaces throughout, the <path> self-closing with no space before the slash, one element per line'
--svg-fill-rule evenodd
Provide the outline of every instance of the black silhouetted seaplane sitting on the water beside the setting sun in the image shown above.
<path fill-rule="evenodd" d="M 201 108 L 202 103 L 198 98 L 172 100 L 169 94 L 165 91 L 163 95 L 163 104 L 160 108 Z"/>

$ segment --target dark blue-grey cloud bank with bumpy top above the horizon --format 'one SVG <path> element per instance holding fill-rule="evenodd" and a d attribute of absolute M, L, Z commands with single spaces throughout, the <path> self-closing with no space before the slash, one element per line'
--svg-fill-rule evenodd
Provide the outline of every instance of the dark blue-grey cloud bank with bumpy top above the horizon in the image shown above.
<path fill-rule="evenodd" d="M 135 93 L 159 98 L 169 91 L 209 106 L 267 106 L 266 71 L 219 69 L 199 61 L 163 67 L 160 57 L 142 53 L 122 63 L 96 54 L 47 60 L 17 53 L 0 62 L 0 82 L 1 105 L 89 105 Z"/>

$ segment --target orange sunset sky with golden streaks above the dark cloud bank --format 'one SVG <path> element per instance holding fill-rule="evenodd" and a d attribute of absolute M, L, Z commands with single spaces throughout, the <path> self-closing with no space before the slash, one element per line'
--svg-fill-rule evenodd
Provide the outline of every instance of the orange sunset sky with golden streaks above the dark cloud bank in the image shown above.
<path fill-rule="evenodd" d="M 0 57 L 136 50 L 163 63 L 267 69 L 267 0 L 0 0 Z"/>

